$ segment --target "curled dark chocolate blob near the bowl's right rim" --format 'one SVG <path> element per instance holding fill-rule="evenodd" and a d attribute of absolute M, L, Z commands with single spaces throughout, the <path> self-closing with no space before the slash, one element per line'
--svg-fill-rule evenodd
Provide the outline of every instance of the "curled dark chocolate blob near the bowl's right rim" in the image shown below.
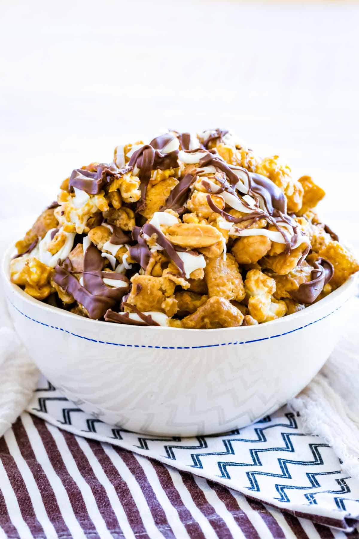
<path fill-rule="evenodd" d="M 297 290 L 290 293 L 298 303 L 313 303 L 334 275 L 333 264 L 325 258 L 318 258 L 313 266 L 311 281 L 303 282 Z"/>

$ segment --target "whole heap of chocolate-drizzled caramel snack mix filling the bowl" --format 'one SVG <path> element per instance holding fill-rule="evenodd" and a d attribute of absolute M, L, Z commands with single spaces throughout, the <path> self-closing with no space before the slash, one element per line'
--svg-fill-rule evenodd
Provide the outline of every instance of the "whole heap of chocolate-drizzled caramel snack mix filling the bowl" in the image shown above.
<path fill-rule="evenodd" d="M 170 131 L 62 182 L 11 281 L 80 316 L 134 326 L 253 326 L 359 269 L 314 208 L 325 192 L 228 131 Z"/>

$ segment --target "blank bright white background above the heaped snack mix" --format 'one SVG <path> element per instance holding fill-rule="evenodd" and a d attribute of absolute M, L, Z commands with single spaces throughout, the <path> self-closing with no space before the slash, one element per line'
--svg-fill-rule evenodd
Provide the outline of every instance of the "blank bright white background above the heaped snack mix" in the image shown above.
<path fill-rule="evenodd" d="M 234 130 L 327 191 L 357 239 L 359 6 L 2 0 L 0 218 L 39 213 L 63 178 L 133 135 Z"/>

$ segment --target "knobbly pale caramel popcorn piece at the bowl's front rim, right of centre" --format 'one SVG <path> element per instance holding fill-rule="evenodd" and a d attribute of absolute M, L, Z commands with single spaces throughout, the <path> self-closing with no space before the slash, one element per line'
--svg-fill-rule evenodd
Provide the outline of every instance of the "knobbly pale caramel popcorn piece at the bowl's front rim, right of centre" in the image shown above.
<path fill-rule="evenodd" d="M 251 269 L 244 281 L 245 292 L 249 295 L 248 309 L 257 322 L 269 322 L 286 313 L 284 301 L 272 298 L 276 291 L 276 281 L 258 269 Z"/>

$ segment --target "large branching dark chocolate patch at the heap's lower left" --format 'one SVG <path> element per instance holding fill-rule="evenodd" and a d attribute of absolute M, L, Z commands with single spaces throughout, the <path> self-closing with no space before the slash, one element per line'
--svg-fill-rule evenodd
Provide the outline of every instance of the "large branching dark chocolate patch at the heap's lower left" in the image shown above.
<path fill-rule="evenodd" d="M 83 286 L 74 277 L 71 260 L 67 258 L 62 264 L 55 267 L 53 279 L 65 292 L 72 294 L 74 299 L 81 303 L 89 313 L 91 319 L 98 320 L 105 312 L 121 301 L 128 288 L 110 288 L 102 280 L 104 259 L 95 245 L 86 249 L 83 258 Z M 110 273 L 110 272 L 108 272 Z M 121 274 L 117 275 L 122 279 Z M 106 276 L 108 277 L 108 276 Z M 111 278 L 111 277 L 110 277 Z"/>

